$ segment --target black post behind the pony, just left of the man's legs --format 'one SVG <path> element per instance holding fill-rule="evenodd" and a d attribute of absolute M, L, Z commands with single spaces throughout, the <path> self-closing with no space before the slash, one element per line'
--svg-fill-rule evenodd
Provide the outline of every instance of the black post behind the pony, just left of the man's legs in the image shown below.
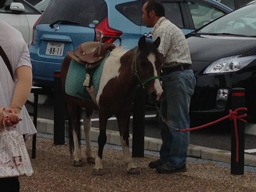
<path fill-rule="evenodd" d="M 144 157 L 145 89 L 142 86 L 136 90 L 132 113 L 132 157 Z"/>

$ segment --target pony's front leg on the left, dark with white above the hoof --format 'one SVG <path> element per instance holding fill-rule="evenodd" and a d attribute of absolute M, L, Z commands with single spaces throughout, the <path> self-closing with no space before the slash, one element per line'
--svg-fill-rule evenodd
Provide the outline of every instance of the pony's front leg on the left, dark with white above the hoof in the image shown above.
<path fill-rule="evenodd" d="M 98 156 L 95 159 L 95 166 L 93 168 L 93 175 L 103 175 L 103 167 L 102 167 L 102 156 L 103 156 L 103 148 L 107 141 L 106 127 L 108 122 L 108 117 L 102 113 L 102 109 L 99 110 L 99 127 L 100 134 L 98 137 Z"/>

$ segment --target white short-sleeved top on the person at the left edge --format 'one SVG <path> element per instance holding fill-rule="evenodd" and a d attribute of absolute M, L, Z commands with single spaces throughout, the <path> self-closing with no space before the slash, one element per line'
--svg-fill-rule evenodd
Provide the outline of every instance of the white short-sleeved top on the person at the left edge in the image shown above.
<path fill-rule="evenodd" d="M 23 65 L 32 67 L 28 46 L 22 34 L 2 20 L 0 20 L 0 45 L 10 61 L 14 79 L 16 79 L 15 71 L 18 67 Z M 13 82 L 10 72 L 0 56 L 0 106 L 8 107 L 10 105 L 14 88 L 15 82 Z M 20 116 L 22 121 L 16 128 L 10 127 L 10 129 L 21 129 L 23 134 L 27 134 L 27 136 L 35 134 L 35 126 L 25 106 L 22 106 Z"/>

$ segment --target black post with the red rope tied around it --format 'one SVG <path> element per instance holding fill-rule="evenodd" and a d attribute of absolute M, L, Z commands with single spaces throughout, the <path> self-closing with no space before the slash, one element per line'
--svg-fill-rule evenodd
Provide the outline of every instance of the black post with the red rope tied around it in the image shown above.
<path fill-rule="evenodd" d="M 244 108 L 244 88 L 232 89 L 232 111 L 237 108 Z M 237 111 L 237 115 L 244 115 L 245 111 Z M 244 122 L 237 120 L 237 138 L 234 129 L 234 122 L 232 122 L 232 138 L 231 138 L 231 174 L 244 174 Z M 238 140 L 238 146 L 236 143 Z M 238 147 L 238 151 L 237 151 Z M 237 159 L 238 157 L 238 159 Z M 237 161 L 238 160 L 238 161 Z"/>

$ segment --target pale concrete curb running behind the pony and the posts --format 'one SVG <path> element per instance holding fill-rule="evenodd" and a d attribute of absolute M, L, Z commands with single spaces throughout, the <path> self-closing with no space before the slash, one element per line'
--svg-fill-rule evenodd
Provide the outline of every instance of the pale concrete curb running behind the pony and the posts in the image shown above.
<path fill-rule="evenodd" d="M 81 129 L 83 129 L 83 125 L 81 126 Z M 253 124 L 247 125 L 245 130 L 246 134 L 255 134 L 255 132 L 253 132 L 253 129 L 255 131 Z M 53 134 L 54 121 L 38 118 L 37 131 L 45 134 Z M 91 134 L 91 140 L 97 142 L 98 136 L 99 136 L 99 128 L 92 127 L 90 134 Z M 107 130 L 106 134 L 107 134 L 108 144 L 119 145 L 119 146 L 121 145 L 119 132 Z M 84 138 L 83 130 L 81 131 L 81 138 Z M 145 137 L 145 144 L 144 144 L 145 150 L 152 150 L 152 151 L 159 152 L 161 148 L 161 144 L 162 144 L 162 140 L 160 139 Z M 132 134 L 130 134 L 129 145 L 132 146 Z M 230 163 L 231 152 L 227 150 L 201 147 L 197 145 L 189 145 L 188 156 L 196 157 L 199 159 L 207 159 L 212 161 Z M 256 166 L 256 156 L 244 154 L 244 165 Z"/>

